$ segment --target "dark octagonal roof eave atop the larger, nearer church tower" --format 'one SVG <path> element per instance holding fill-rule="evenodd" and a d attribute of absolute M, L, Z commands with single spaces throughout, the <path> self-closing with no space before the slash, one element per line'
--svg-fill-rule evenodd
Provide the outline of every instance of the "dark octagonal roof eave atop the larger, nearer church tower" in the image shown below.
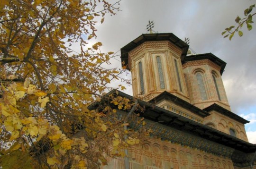
<path fill-rule="evenodd" d="M 137 37 L 132 42 L 129 42 L 127 45 L 121 48 L 121 60 L 124 61 L 126 65 L 128 65 L 128 52 L 139 46 L 140 44 L 144 42 L 152 42 L 152 41 L 170 41 L 174 45 L 176 45 L 178 48 L 182 50 L 182 56 L 181 59 L 183 60 L 184 57 L 187 55 L 187 51 L 189 48 L 189 45 L 185 42 L 183 42 L 181 39 L 179 39 L 177 36 L 175 36 L 172 33 L 162 33 L 162 34 L 142 34 L 139 37 Z M 129 70 L 130 68 L 127 67 Z"/>

